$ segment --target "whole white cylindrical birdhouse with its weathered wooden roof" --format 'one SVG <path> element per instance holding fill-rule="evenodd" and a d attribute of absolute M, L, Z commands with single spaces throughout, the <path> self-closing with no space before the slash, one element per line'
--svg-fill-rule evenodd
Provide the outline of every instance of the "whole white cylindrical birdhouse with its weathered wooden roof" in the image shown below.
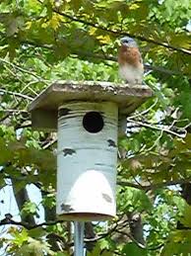
<path fill-rule="evenodd" d="M 32 128 L 57 130 L 59 218 L 92 221 L 115 215 L 119 119 L 151 96 L 146 85 L 59 81 L 33 100 Z"/>

